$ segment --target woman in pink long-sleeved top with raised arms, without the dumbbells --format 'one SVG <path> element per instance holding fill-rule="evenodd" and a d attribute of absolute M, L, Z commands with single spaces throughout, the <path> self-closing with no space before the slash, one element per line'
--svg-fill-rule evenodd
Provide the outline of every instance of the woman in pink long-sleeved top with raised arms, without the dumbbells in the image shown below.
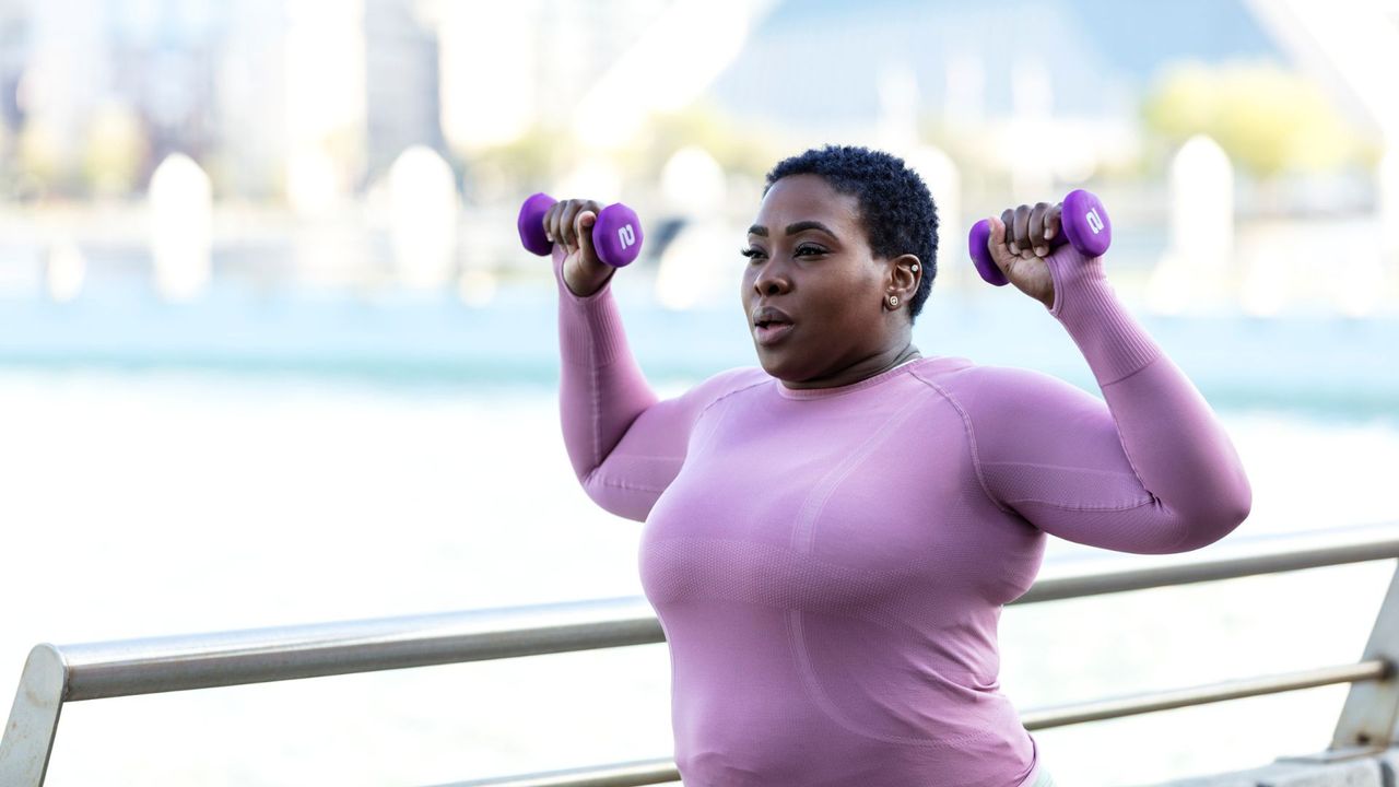
<path fill-rule="evenodd" d="M 922 357 L 926 186 L 883 153 L 811 150 L 768 175 L 743 251 L 762 368 L 662 402 L 590 245 L 599 207 L 544 217 L 564 437 L 589 496 L 646 522 L 686 786 L 1051 784 L 996 678 L 1000 608 L 1034 583 L 1045 535 L 1184 552 L 1251 506 L 1209 405 L 1101 260 L 1049 253 L 1058 209 L 992 218 L 996 265 L 1073 336 L 1105 405 L 1044 374 Z"/>

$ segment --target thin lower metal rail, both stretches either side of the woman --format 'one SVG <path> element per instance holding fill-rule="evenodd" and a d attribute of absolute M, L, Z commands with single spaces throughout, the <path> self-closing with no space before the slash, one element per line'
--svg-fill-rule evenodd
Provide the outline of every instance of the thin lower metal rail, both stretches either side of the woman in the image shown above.
<path fill-rule="evenodd" d="M 1210 683 L 1207 686 L 1196 686 L 1191 689 L 1177 689 L 1171 692 L 1156 692 L 1150 695 L 1136 695 L 1130 697 L 1031 710 L 1020 714 L 1020 720 L 1024 723 L 1025 730 L 1035 731 L 1051 727 L 1083 724 L 1087 721 L 1121 718 L 1125 716 L 1136 716 L 1158 710 L 1172 710 L 1178 707 L 1255 697 L 1260 695 L 1314 689 L 1316 686 L 1330 686 L 1333 683 L 1382 681 L 1391 675 L 1392 669 L 1389 662 L 1363 661 L 1360 664 L 1321 667 L 1316 669 L 1304 669 L 1283 675 Z M 674 760 L 667 758 L 596 767 L 579 767 L 572 770 L 555 770 L 548 773 L 533 773 L 526 776 L 509 776 L 504 779 L 478 779 L 474 781 L 457 781 L 442 787 L 639 787 L 642 784 L 667 784 L 679 780 L 680 772 L 676 769 Z"/>

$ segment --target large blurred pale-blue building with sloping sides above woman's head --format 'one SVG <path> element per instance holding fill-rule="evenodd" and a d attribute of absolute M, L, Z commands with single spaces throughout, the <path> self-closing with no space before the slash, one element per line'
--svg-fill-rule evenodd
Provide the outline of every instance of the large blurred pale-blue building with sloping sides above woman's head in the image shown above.
<path fill-rule="evenodd" d="M 1035 102 L 1135 116 L 1163 63 L 1260 57 L 1280 55 L 1238 0 L 804 0 L 776 6 L 713 94 L 743 115 L 849 129 L 880 111 L 880 74 L 908 69 L 947 122 Z M 1017 95 L 1044 83 L 1052 95 Z"/>

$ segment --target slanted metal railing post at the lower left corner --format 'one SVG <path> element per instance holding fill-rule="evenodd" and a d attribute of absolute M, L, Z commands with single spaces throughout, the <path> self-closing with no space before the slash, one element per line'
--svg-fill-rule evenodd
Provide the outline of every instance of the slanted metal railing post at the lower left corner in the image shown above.
<path fill-rule="evenodd" d="M 10 721 L 0 741 L 0 784 L 4 787 L 43 784 L 67 683 L 69 669 L 57 648 L 35 646 L 24 662 Z"/>

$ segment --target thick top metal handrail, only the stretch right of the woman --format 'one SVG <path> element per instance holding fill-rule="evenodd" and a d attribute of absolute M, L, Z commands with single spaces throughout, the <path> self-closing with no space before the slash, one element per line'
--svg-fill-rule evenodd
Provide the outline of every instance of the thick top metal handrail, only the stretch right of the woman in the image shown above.
<path fill-rule="evenodd" d="M 1399 524 L 1252 538 L 1189 556 L 1046 563 L 1011 604 L 1037 604 L 1399 557 Z"/>

